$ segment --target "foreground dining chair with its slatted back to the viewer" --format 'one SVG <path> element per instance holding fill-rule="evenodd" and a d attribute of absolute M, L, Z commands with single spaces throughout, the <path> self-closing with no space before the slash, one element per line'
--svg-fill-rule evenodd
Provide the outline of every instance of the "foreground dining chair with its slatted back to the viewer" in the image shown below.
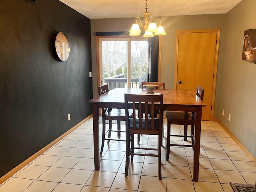
<path fill-rule="evenodd" d="M 134 155 L 158 157 L 158 178 L 162 180 L 161 172 L 161 146 L 163 126 L 163 94 L 124 94 L 124 107 L 126 113 L 126 163 L 125 174 L 128 176 L 129 159 Z M 129 116 L 129 109 L 133 110 L 133 116 Z M 145 114 L 145 116 L 142 115 Z M 148 118 L 148 114 L 158 114 L 158 118 Z M 157 148 L 134 147 L 134 134 L 158 135 Z M 138 150 L 157 150 L 157 154 L 134 152 Z M 137 150 L 136 150 L 137 151 Z"/>

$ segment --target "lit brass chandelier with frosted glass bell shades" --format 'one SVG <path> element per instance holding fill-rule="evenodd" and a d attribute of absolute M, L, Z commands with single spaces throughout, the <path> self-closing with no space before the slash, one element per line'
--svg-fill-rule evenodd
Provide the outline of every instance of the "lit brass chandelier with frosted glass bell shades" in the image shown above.
<path fill-rule="evenodd" d="M 143 25 L 141 22 L 141 19 L 139 17 L 135 18 L 135 23 L 132 24 L 132 28 L 129 31 L 130 36 L 138 36 L 141 33 L 140 27 L 145 29 L 145 33 L 143 37 L 153 37 L 155 35 L 166 35 L 164 32 L 164 27 L 161 24 L 161 21 L 159 19 L 154 21 L 153 16 L 149 18 L 150 12 L 148 12 L 148 0 L 146 0 L 146 6 L 145 6 L 146 11 L 143 13 L 144 15 L 144 22 L 145 24 Z M 156 27 L 156 21 L 160 22 L 158 24 L 158 27 Z M 154 33 L 154 34 L 153 34 Z"/>

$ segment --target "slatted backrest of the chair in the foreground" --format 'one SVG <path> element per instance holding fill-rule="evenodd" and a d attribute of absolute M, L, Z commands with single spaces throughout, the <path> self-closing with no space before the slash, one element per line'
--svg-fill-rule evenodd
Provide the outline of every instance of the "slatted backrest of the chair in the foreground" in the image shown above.
<path fill-rule="evenodd" d="M 129 129 L 161 130 L 163 125 L 163 94 L 124 94 L 124 106 L 126 126 Z M 133 110 L 132 118 L 129 118 L 128 109 Z M 144 116 L 143 113 L 145 114 Z M 155 114 L 158 114 L 158 118 L 151 119 L 148 117 L 149 115 L 154 117 Z"/>

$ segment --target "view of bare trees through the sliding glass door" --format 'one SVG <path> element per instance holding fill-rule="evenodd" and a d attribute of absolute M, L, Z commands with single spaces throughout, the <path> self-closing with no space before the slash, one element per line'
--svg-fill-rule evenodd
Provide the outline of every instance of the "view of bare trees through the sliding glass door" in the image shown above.
<path fill-rule="evenodd" d="M 103 78 L 124 74 L 127 78 L 128 41 L 102 41 Z M 148 71 L 148 41 L 131 40 L 131 77 L 141 78 Z"/>

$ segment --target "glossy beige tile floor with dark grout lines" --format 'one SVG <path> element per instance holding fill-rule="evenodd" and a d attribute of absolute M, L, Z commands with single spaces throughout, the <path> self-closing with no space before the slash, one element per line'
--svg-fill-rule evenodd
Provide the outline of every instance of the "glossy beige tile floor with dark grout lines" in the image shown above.
<path fill-rule="evenodd" d="M 180 134 L 182 126 L 171 131 Z M 192 148 L 184 147 L 170 148 L 168 162 L 162 148 L 162 181 L 155 157 L 134 156 L 124 177 L 124 142 L 105 144 L 94 171 L 92 134 L 90 119 L 1 184 L 0 192 L 233 192 L 229 182 L 255 184 L 256 164 L 217 122 L 202 122 L 199 182 L 192 180 Z M 157 139 L 143 135 L 140 144 L 156 146 Z"/>

